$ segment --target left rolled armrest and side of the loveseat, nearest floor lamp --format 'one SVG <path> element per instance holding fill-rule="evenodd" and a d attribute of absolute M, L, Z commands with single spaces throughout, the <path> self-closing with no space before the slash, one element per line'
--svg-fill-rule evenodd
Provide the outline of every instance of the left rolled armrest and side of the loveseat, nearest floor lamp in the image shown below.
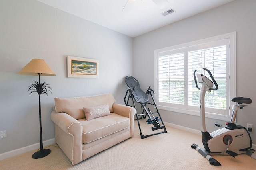
<path fill-rule="evenodd" d="M 82 124 L 70 115 L 52 111 L 51 119 L 55 123 L 55 141 L 70 159 L 72 164 L 82 161 Z"/>

